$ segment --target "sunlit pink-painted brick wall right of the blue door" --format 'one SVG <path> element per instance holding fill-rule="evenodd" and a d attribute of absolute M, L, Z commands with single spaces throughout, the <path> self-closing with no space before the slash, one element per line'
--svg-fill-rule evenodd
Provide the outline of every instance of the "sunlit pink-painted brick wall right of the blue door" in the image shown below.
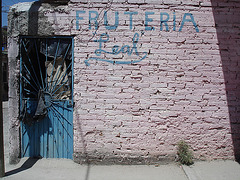
<path fill-rule="evenodd" d="M 230 96 L 226 94 L 215 28 L 219 20 L 213 12 L 213 7 L 218 6 L 233 9 L 230 15 L 239 15 L 239 3 L 223 1 L 221 4 L 210 0 L 114 0 L 112 3 L 72 0 L 67 7 L 59 6 L 45 12 L 54 23 L 57 35 L 75 35 L 76 159 L 84 156 L 99 160 L 172 157 L 180 140 L 189 143 L 196 158 L 233 158 Z M 77 11 L 85 11 L 78 14 L 82 20 L 76 20 Z M 89 29 L 89 11 L 99 14 L 98 30 L 94 24 Z M 104 11 L 108 11 L 109 25 L 115 23 L 115 12 L 119 13 L 116 29 L 105 28 Z M 138 13 L 132 15 L 132 29 L 129 15 L 124 14 L 126 11 Z M 152 13 L 148 18 L 153 21 L 149 21 L 148 26 L 154 30 L 145 29 L 146 12 Z M 169 31 L 164 25 L 161 31 L 160 13 L 169 14 Z M 179 32 L 185 13 L 192 14 L 198 30 L 193 22 L 185 22 Z M 232 31 L 239 33 L 236 28 Z M 102 49 L 109 52 L 114 45 L 133 47 L 132 38 L 138 33 L 139 56 L 135 51 L 130 56 L 124 53 L 97 56 L 95 50 L 99 48 L 99 42 L 95 40 L 103 33 L 108 34 L 109 40 L 102 43 Z M 233 38 L 236 41 L 239 35 Z M 88 61 L 89 66 L 84 63 L 96 57 L 131 61 L 143 57 L 145 52 L 146 58 L 135 64 L 96 60 Z M 236 53 L 231 58 L 238 59 L 239 55 Z M 232 68 L 239 68 L 238 64 Z"/>

